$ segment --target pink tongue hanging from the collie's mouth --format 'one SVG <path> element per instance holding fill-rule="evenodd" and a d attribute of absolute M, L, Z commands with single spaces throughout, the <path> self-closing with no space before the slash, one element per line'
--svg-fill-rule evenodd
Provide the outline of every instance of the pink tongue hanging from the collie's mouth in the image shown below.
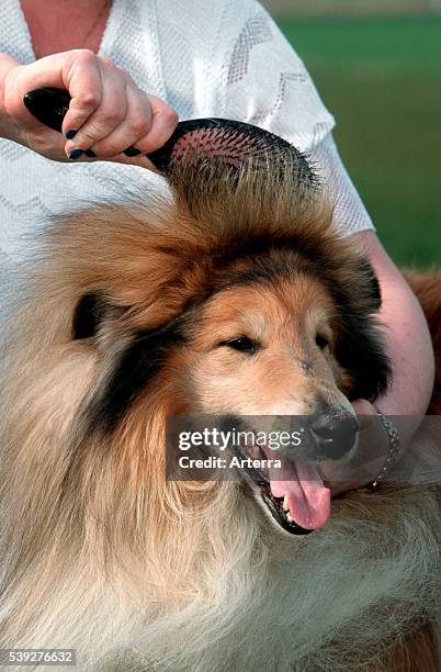
<path fill-rule="evenodd" d="M 305 529 L 323 527 L 330 516 L 330 490 L 312 462 L 291 461 L 270 448 L 263 448 L 270 459 L 281 460 L 282 467 L 270 467 L 271 492 L 286 497 L 294 523 Z"/>

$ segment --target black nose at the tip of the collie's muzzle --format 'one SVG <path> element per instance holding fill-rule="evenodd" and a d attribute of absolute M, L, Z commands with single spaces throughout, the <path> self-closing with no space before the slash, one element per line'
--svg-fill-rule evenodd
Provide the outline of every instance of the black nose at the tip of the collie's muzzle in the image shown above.
<path fill-rule="evenodd" d="M 349 452 L 355 443 L 359 424 L 348 411 L 321 408 L 310 418 L 309 428 L 330 460 L 338 460 Z"/>

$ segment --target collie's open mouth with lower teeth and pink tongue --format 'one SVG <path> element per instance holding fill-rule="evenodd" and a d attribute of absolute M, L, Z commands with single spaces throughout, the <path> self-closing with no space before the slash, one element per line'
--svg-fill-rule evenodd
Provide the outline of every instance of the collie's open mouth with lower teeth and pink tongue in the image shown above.
<path fill-rule="evenodd" d="M 330 490 L 317 468 L 312 462 L 287 459 L 267 447 L 258 451 L 268 468 L 246 468 L 246 471 L 276 523 L 293 535 L 308 535 L 323 527 L 330 515 Z"/>

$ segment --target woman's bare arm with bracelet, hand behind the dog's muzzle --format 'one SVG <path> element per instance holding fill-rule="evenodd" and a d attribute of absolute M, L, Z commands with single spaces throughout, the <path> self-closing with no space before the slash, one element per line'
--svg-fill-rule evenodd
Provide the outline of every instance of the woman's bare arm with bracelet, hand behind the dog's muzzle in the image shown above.
<path fill-rule="evenodd" d="M 399 451 L 394 462 L 405 458 L 427 412 L 434 380 L 432 343 L 417 298 L 374 232 L 354 234 L 353 240 L 368 255 L 380 282 L 378 321 L 393 373 L 387 391 L 373 403 L 362 399 L 352 403 L 360 425 L 358 455 L 353 462 L 327 467 L 326 477 L 333 495 L 374 481 L 386 464 L 391 437 L 378 413 L 389 416 L 399 434 Z M 387 477 L 394 478 L 394 464 L 387 469 Z"/>

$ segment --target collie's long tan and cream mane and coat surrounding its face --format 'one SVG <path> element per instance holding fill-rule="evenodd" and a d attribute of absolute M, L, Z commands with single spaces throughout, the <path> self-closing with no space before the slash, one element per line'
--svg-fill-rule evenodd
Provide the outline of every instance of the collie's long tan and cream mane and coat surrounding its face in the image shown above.
<path fill-rule="evenodd" d="M 1 646 L 78 648 L 84 669 L 306 672 L 386 669 L 399 645 L 399 669 L 434 672 L 429 636 L 402 646 L 438 617 L 430 488 L 349 494 L 320 533 L 284 536 L 238 483 L 166 483 L 167 371 L 147 415 L 135 404 L 111 434 L 86 432 L 84 399 L 121 344 L 191 312 L 250 259 L 256 277 L 293 272 L 293 260 L 320 277 L 344 313 L 353 395 L 387 384 L 377 284 L 333 232 L 329 203 L 270 167 L 234 180 L 183 167 L 173 189 L 173 203 L 146 206 L 143 194 L 63 217 L 14 315 L 0 417 Z M 91 294 L 97 341 L 72 340 Z"/>

